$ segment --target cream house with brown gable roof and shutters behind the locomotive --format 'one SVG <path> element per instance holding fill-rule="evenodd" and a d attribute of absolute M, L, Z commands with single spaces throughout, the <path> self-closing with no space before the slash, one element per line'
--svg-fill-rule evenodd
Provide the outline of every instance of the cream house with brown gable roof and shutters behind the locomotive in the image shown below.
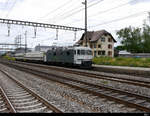
<path fill-rule="evenodd" d="M 76 42 L 80 46 L 87 46 L 92 49 L 94 57 L 109 56 L 114 57 L 114 43 L 116 40 L 106 30 L 87 32 L 87 41 L 85 33 L 81 39 Z"/>

